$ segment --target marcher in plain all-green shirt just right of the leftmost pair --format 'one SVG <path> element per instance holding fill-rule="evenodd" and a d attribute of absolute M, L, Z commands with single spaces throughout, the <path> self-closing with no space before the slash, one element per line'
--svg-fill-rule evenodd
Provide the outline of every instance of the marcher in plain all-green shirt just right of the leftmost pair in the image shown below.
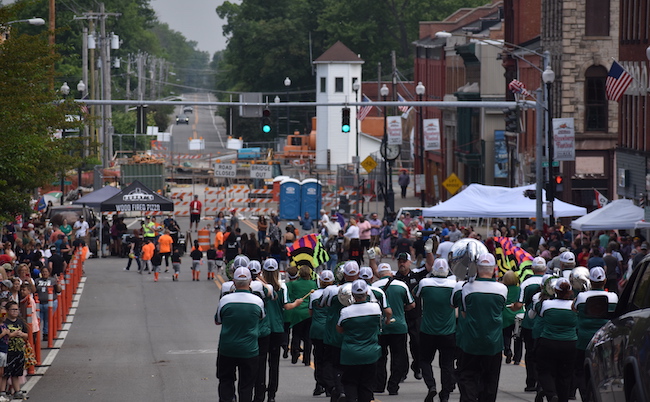
<path fill-rule="evenodd" d="M 311 279 L 311 268 L 302 265 L 298 269 L 298 278 L 295 281 L 287 282 L 287 291 L 290 301 L 305 298 L 307 303 L 301 304 L 292 310 L 291 314 L 291 363 L 296 364 L 300 357 L 300 344 L 303 345 L 302 362 L 305 366 L 311 364 L 311 316 L 309 315 L 309 294 L 317 289 L 316 281 Z M 305 297 L 307 295 L 307 297 Z"/>

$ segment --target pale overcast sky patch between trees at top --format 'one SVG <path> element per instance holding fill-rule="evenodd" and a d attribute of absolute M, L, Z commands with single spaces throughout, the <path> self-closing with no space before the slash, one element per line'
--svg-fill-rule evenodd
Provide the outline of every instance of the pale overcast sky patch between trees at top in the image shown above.
<path fill-rule="evenodd" d="M 158 19 L 174 31 L 182 33 L 187 39 L 198 42 L 198 49 L 210 53 L 226 48 L 226 38 L 221 27 L 216 8 L 224 0 L 150 0 Z M 230 0 L 241 3 L 240 0 Z"/>

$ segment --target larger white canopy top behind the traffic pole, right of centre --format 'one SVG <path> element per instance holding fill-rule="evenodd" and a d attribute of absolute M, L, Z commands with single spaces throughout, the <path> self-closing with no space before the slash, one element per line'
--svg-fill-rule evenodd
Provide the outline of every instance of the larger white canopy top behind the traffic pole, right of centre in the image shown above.
<path fill-rule="evenodd" d="M 533 218 L 536 215 L 537 200 L 524 195 L 524 191 L 535 191 L 535 184 L 522 187 L 498 187 L 470 184 L 447 201 L 422 210 L 425 218 Z M 546 200 L 546 192 L 542 192 Z M 583 216 L 587 209 L 555 200 L 553 211 L 556 218 Z M 544 211 L 544 216 L 548 216 Z"/>

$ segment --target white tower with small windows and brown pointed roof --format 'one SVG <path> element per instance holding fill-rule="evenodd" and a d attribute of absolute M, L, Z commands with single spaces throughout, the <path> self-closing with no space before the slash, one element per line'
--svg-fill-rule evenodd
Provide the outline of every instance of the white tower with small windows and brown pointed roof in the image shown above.
<path fill-rule="evenodd" d="M 336 42 L 314 61 L 316 65 L 316 101 L 356 102 L 353 84 L 361 84 L 363 60 L 343 43 Z M 361 94 L 359 93 L 359 96 Z M 343 106 L 316 107 L 316 167 L 352 163 L 356 155 L 355 107 L 350 107 L 350 132 L 341 131 Z"/>

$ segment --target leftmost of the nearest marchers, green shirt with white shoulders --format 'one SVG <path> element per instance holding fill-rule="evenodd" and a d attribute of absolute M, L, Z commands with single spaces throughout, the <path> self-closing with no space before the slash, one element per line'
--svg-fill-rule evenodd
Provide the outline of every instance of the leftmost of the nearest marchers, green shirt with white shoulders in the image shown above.
<path fill-rule="evenodd" d="M 257 338 L 260 320 L 265 316 L 264 303 L 249 289 L 251 274 L 247 268 L 236 269 L 234 279 L 235 292 L 221 298 L 214 317 L 215 324 L 222 326 L 217 354 L 219 400 L 234 400 L 238 375 L 238 401 L 251 402 L 257 377 Z"/>

